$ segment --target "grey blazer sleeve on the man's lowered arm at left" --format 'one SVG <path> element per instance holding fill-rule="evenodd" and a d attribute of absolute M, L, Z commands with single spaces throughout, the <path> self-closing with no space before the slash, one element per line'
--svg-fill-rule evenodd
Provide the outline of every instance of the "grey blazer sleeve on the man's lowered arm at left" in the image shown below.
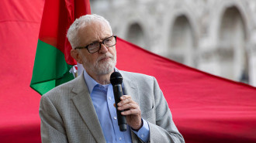
<path fill-rule="evenodd" d="M 67 143 L 61 116 L 47 96 L 41 97 L 39 114 L 42 143 Z"/>

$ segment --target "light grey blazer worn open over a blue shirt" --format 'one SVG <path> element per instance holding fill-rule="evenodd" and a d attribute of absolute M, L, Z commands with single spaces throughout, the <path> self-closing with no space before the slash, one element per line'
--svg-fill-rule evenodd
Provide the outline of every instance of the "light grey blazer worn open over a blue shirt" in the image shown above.
<path fill-rule="evenodd" d="M 124 94 L 140 105 L 150 127 L 151 143 L 185 142 L 154 77 L 119 71 Z M 40 100 L 42 142 L 106 142 L 83 74 L 44 94 Z M 133 143 L 140 142 L 131 131 Z"/>

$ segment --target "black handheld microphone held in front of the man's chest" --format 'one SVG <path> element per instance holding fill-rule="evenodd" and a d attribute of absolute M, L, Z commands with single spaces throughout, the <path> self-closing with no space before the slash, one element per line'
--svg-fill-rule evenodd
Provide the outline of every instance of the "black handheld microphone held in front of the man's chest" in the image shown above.
<path fill-rule="evenodd" d="M 127 123 L 126 123 L 126 117 L 121 114 L 122 111 L 119 111 L 117 109 L 117 104 L 120 102 L 120 97 L 123 96 L 123 77 L 119 72 L 114 72 L 110 76 L 110 83 L 113 87 L 114 97 L 116 101 L 116 114 L 117 114 L 117 120 L 120 131 L 126 131 L 127 129 Z"/>

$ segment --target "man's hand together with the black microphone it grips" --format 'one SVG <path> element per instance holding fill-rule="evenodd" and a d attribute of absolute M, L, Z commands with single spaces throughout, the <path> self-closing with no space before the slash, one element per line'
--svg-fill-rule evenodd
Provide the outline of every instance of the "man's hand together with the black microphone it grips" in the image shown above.
<path fill-rule="evenodd" d="M 116 114 L 120 131 L 126 131 L 126 124 L 138 131 L 142 127 L 140 106 L 129 95 L 123 95 L 123 77 L 114 72 L 110 76 L 116 101 Z"/>

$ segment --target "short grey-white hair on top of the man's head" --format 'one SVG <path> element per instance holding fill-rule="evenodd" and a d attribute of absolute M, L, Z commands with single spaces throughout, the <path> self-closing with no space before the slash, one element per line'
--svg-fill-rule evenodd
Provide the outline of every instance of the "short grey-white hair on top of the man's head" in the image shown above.
<path fill-rule="evenodd" d="M 69 43 L 71 43 L 72 49 L 79 46 L 80 38 L 78 37 L 78 30 L 81 26 L 88 26 L 91 22 L 99 21 L 102 23 L 106 23 L 109 26 L 109 29 L 112 32 L 109 21 L 103 18 L 100 15 L 83 15 L 79 19 L 75 19 L 72 25 L 67 30 L 67 39 Z"/>

